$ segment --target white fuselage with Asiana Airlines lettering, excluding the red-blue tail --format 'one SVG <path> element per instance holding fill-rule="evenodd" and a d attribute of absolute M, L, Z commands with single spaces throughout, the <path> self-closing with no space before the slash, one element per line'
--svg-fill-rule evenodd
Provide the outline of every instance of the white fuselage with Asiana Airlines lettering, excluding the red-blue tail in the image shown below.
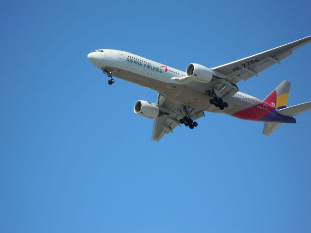
<path fill-rule="evenodd" d="M 229 106 L 221 111 L 209 103 L 212 97 L 206 93 L 214 83 L 202 83 L 200 86 L 191 86 L 191 83 L 184 85 L 174 79 L 185 77 L 184 71 L 120 50 L 96 50 L 89 53 L 88 58 L 104 72 L 106 69 L 111 70 L 112 75 L 117 78 L 154 89 L 170 100 L 204 111 L 232 115 L 262 102 L 258 98 L 237 92 L 234 96 L 224 99 Z"/>

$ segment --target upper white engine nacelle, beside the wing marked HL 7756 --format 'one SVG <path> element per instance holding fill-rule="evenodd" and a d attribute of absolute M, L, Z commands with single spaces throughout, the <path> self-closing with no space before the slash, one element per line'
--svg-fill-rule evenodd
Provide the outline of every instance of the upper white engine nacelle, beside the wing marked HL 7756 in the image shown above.
<path fill-rule="evenodd" d="M 209 83 L 213 79 L 213 71 L 199 64 L 191 63 L 186 69 L 188 77 L 201 83 Z"/>

